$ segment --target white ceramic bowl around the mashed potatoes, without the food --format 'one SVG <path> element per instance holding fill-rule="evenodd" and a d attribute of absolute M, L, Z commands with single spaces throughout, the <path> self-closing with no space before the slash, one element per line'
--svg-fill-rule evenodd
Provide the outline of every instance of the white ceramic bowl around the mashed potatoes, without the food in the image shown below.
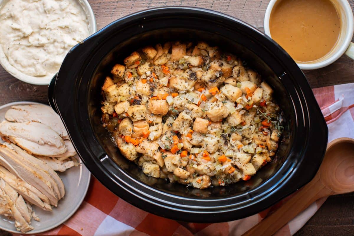
<path fill-rule="evenodd" d="M 0 9 L 4 4 L 6 4 L 8 0 L 0 0 Z M 87 16 L 87 21 L 89 22 L 89 33 L 90 35 L 95 33 L 97 31 L 97 26 L 96 26 L 96 19 L 95 15 L 93 14 L 92 8 L 87 0 L 74 0 L 77 1 L 84 12 L 86 13 Z M 52 79 L 53 75 L 48 75 L 48 76 L 42 76 L 42 77 L 36 77 L 36 76 L 30 76 L 22 73 L 21 71 L 18 71 L 15 67 L 13 67 L 9 62 L 7 57 L 5 56 L 4 51 L 2 50 L 2 47 L 0 46 L 0 64 L 2 67 L 10 73 L 13 77 L 16 77 L 19 80 L 22 80 L 23 82 L 29 83 L 29 84 L 34 84 L 34 85 L 48 85 L 50 80 Z"/>

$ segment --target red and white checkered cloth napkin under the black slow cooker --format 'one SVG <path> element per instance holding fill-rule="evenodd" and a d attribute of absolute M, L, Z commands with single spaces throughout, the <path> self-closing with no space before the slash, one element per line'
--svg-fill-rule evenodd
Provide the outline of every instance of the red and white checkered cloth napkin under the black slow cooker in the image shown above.
<path fill-rule="evenodd" d="M 313 92 L 329 128 L 329 142 L 339 137 L 354 138 L 354 83 L 316 88 Z M 314 202 L 276 235 L 295 234 L 325 200 L 326 198 L 321 198 Z M 85 201 L 78 211 L 63 225 L 39 235 L 241 235 L 285 201 L 286 199 L 240 220 L 215 224 L 181 223 L 130 205 L 106 189 L 97 179 L 92 178 Z"/>

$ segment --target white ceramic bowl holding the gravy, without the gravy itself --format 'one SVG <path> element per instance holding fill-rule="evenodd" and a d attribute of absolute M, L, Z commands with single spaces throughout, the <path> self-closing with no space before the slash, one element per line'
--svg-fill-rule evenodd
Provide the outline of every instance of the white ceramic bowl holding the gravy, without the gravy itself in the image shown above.
<path fill-rule="evenodd" d="M 272 35 L 270 34 L 269 30 L 269 18 L 270 13 L 272 12 L 273 7 L 277 1 L 281 0 L 270 0 L 264 16 L 264 32 L 270 38 L 272 38 Z M 326 56 L 313 62 L 297 63 L 297 65 L 303 70 L 313 70 L 325 67 L 335 62 L 344 53 L 354 59 L 354 44 L 351 42 L 354 33 L 354 17 L 352 8 L 350 7 L 347 0 L 331 1 L 335 4 L 337 10 L 339 11 L 339 16 L 341 16 L 342 29 L 339 35 L 339 40 L 337 41 L 337 44 L 332 49 L 332 51 Z"/>

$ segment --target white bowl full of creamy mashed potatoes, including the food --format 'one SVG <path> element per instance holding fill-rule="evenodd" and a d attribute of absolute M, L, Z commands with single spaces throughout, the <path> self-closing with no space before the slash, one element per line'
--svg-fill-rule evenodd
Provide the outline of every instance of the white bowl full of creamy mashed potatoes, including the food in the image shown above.
<path fill-rule="evenodd" d="M 0 0 L 0 64 L 19 80 L 48 85 L 68 51 L 96 31 L 86 0 Z"/>

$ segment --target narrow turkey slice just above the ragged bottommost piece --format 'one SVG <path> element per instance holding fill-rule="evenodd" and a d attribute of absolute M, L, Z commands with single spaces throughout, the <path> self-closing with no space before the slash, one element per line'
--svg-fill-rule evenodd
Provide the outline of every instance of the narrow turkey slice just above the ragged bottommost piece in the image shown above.
<path fill-rule="evenodd" d="M 48 204 L 48 197 L 46 197 L 32 185 L 28 184 L 27 182 L 24 182 L 12 173 L 8 172 L 7 169 L 2 166 L 0 166 L 0 178 L 5 180 L 6 183 L 8 183 L 13 189 L 15 189 L 20 195 L 22 195 L 23 198 L 28 202 L 46 211 L 52 210 L 51 206 Z M 41 199 L 45 202 L 42 202 Z"/>

